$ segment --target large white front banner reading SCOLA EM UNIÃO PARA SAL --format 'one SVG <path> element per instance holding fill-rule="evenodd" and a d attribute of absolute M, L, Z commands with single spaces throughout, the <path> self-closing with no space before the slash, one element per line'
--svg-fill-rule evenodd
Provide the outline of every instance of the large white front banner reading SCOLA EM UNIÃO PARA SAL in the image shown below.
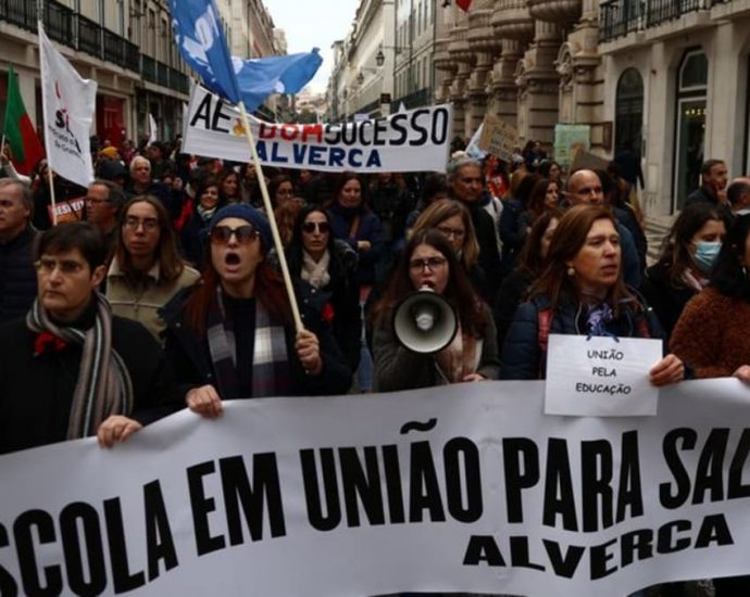
<path fill-rule="evenodd" d="M 542 382 L 239 401 L 0 458 L 0 594 L 626 595 L 750 573 L 750 390 L 542 415 Z"/>

